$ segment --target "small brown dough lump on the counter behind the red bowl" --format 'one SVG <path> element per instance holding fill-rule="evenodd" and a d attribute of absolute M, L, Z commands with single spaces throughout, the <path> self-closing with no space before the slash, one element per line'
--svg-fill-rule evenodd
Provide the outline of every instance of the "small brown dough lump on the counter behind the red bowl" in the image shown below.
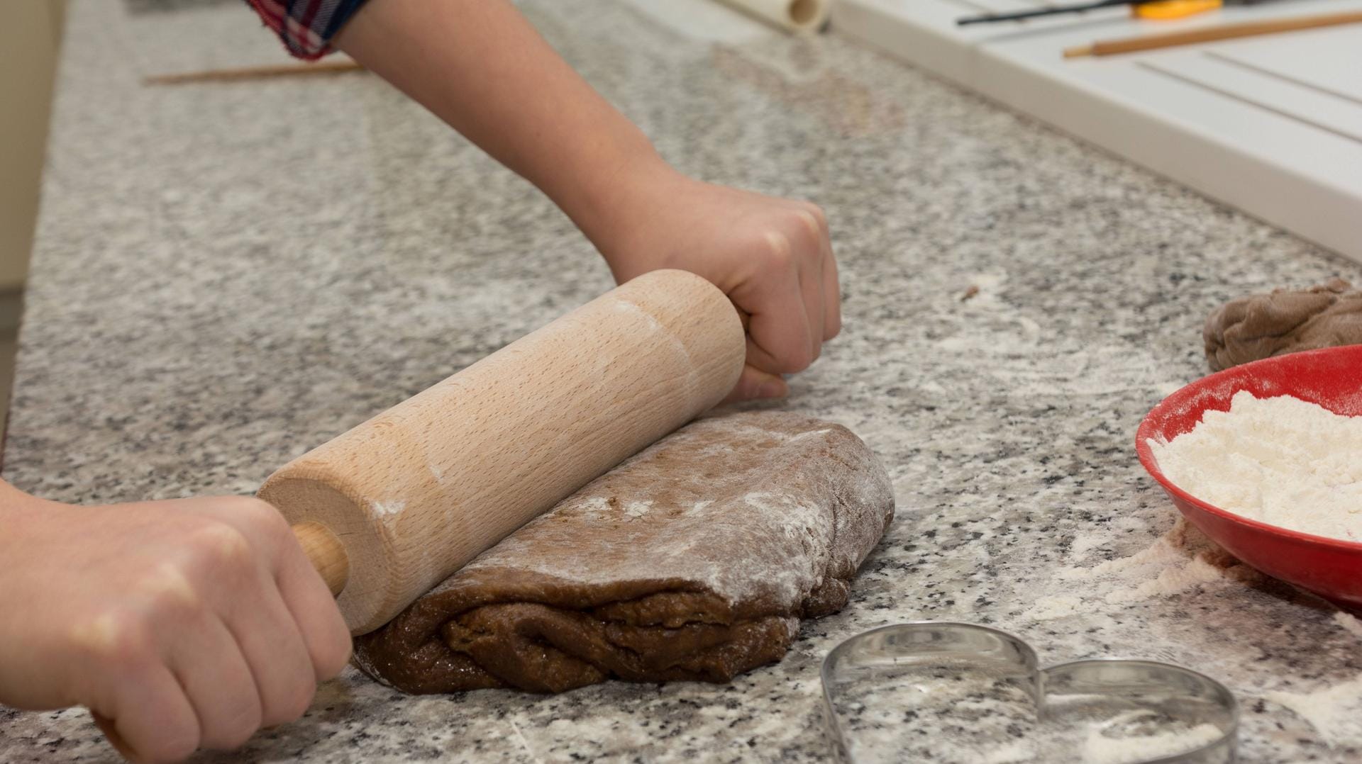
<path fill-rule="evenodd" d="M 1362 290 L 1343 279 L 1226 302 L 1205 320 L 1205 358 L 1219 372 L 1238 364 L 1337 345 L 1362 345 Z"/>

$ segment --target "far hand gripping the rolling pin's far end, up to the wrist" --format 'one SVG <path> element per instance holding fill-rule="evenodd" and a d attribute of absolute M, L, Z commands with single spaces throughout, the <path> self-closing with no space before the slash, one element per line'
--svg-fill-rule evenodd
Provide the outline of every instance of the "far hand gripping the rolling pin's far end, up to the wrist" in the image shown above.
<path fill-rule="evenodd" d="M 629 184 L 625 184 L 629 185 Z M 842 328 L 823 210 L 661 172 L 617 197 L 588 234 L 617 282 L 658 268 L 701 275 L 750 316 L 748 365 L 730 400 L 778 398 Z"/>

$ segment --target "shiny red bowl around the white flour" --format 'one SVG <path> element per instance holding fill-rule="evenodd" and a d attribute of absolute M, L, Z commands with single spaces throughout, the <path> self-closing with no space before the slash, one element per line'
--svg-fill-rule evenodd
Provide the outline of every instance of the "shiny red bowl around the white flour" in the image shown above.
<path fill-rule="evenodd" d="M 1204 411 L 1227 411 L 1230 398 L 1241 389 L 1258 398 L 1291 395 L 1335 414 L 1362 415 L 1362 345 L 1293 353 L 1200 379 L 1155 406 L 1135 434 L 1140 463 L 1201 532 L 1269 576 L 1362 611 L 1362 543 L 1291 531 L 1226 512 L 1173 485 L 1159 470 L 1150 439 L 1173 440 L 1194 428 Z"/>

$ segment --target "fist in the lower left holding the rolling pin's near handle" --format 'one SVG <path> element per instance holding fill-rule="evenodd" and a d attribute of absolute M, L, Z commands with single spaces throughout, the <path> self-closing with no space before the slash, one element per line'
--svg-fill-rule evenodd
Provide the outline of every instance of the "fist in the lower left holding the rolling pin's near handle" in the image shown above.
<path fill-rule="evenodd" d="M 142 761 L 298 718 L 350 633 L 255 498 L 69 507 L 0 483 L 0 703 L 87 705 Z"/>

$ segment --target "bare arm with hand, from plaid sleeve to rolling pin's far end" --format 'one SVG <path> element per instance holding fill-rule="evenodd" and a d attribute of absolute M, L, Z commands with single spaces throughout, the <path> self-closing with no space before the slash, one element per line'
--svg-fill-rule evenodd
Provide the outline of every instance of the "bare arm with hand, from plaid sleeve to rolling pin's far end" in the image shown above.
<path fill-rule="evenodd" d="M 840 328 L 823 211 L 686 178 L 505 0 L 369 0 L 335 45 L 539 187 L 616 279 L 693 271 L 752 316 L 737 398 L 786 392 Z"/>

